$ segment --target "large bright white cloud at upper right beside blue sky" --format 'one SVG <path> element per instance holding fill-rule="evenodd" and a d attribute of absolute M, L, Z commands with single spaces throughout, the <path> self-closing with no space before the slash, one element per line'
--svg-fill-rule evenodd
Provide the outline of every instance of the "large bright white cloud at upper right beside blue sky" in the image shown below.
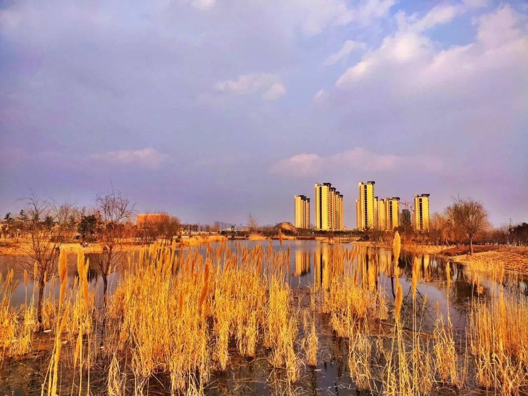
<path fill-rule="evenodd" d="M 449 20 L 450 12 L 431 11 L 427 15 L 429 17 L 411 25 L 419 29 L 400 26 L 399 31 L 385 37 L 378 49 L 348 68 L 336 81 L 336 86 L 349 89 L 359 83 L 384 81 L 384 87 L 390 86 L 394 92 L 397 92 L 395 87 L 401 87 L 401 93 L 418 93 L 425 86 L 445 89 L 446 81 L 451 87 L 460 88 L 481 80 L 483 74 L 493 70 L 513 67 L 520 72 L 528 67 L 526 25 L 511 7 L 505 6 L 480 17 L 474 43 L 453 45 L 447 49 L 437 48 L 437 44 L 420 30 Z M 454 90 L 451 95 L 457 95 L 457 92 Z"/>

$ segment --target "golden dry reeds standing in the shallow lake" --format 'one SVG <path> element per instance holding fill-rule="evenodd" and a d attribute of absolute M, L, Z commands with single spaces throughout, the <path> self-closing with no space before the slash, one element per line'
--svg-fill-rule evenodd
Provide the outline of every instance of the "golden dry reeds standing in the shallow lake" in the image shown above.
<path fill-rule="evenodd" d="M 417 299 L 423 274 L 413 263 L 406 300 L 395 265 L 400 249 L 397 237 L 392 260 L 381 266 L 375 254 L 358 264 L 356 250 L 332 248 L 309 288 L 309 303 L 301 307 L 288 282 L 289 249 L 276 251 L 271 244 L 231 249 L 221 243 L 202 255 L 153 244 L 128 258 L 106 312 L 95 307 L 83 252 L 72 288 L 66 286 L 62 252 L 59 298 L 44 299 L 44 327 L 53 331 L 42 394 L 144 394 L 160 375 L 167 378 L 167 392 L 202 394 L 235 356 L 266 359 L 282 378 L 276 392 L 295 393 L 301 370 L 319 363 L 316 317 L 326 318 L 345 342 L 348 374 L 359 389 L 388 395 L 465 386 L 501 394 L 526 391 L 525 297 L 501 289 L 470 301 L 463 340 L 456 340 L 449 316 L 438 310 L 433 331 L 423 332 L 427 298 Z M 448 279 L 449 271 L 447 266 Z M 378 284 L 381 273 L 392 279 L 394 299 Z M 503 271 L 494 275 L 502 276 Z M 13 273 L 1 281 L 0 362 L 9 364 L 11 356 L 31 350 L 38 325 L 33 300 L 10 305 L 17 287 Z M 404 304 L 410 314 L 404 314 Z M 70 375 L 63 375 L 66 370 Z"/>

